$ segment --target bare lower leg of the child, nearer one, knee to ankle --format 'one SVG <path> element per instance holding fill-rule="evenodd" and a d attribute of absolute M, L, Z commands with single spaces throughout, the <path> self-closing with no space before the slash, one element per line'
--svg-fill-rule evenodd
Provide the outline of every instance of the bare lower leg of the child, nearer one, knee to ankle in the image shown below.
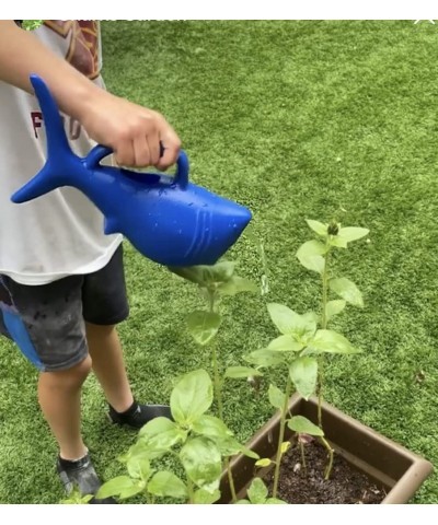
<path fill-rule="evenodd" d="M 81 387 L 90 369 L 88 355 L 72 369 L 39 375 L 39 406 L 64 459 L 74 460 L 87 454 L 81 435 Z"/>

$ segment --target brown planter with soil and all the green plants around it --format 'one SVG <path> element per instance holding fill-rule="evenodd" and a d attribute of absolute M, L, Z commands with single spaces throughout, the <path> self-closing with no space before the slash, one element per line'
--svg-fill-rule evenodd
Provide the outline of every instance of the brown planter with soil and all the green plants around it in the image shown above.
<path fill-rule="evenodd" d="M 127 475 L 106 482 L 97 495 L 143 494 L 148 502 L 173 498 L 187 503 L 403 503 L 431 472 L 429 462 L 323 400 L 324 357 L 361 351 L 330 328 L 347 303 L 362 306 L 356 284 L 332 276 L 332 253 L 368 230 L 308 224 L 319 238 L 304 243 L 297 257 L 320 276 L 321 312 L 300 315 L 268 304 L 280 335 L 246 355 L 251 366 L 223 370 L 216 343 L 222 320 L 217 305 L 222 295 L 253 291 L 254 285 L 235 276 L 229 261 L 173 269 L 196 283 L 206 299 L 205 310 L 188 314 L 187 326 L 195 341 L 211 350 L 206 361 L 212 362 L 214 380 L 205 370 L 183 376 L 171 396 L 174 421 L 147 423 L 122 457 Z M 268 389 L 278 411 L 241 445 L 223 421 L 223 381 L 261 376 L 272 366 L 285 371 L 283 389 L 274 384 Z M 207 413 L 214 399 L 216 416 Z M 164 456 L 178 465 L 163 469 Z"/>

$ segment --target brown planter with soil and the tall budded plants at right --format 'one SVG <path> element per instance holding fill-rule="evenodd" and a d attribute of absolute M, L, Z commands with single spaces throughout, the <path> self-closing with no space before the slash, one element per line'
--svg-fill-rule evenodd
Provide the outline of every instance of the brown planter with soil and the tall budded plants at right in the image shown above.
<path fill-rule="evenodd" d="M 234 488 L 230 491 L 230 474 L 223 475 L 219 503 L 265 503 L 269 492 L 289 503 L 405 503 L 430 475 L 431 464 L 323 400 L 324 355 L 360 351 L 328 329 L 347 303 L 362 306 L 356 284 L 331 275 L 332 252 L 347 248 L 368 230 L 307 222 L 318 238 L 304 243 L 297 257 L 320 275 L 321 312 L 299 315 L 268 304 L 281 335 L 246 360 L 258 372 L 285 365 L 286 386 L 269 386 L 278 411 L 246 443 L 261 459 L 239 455 L 231 460 Z M 331 293 L 337 299 L 330 300 Z"/>

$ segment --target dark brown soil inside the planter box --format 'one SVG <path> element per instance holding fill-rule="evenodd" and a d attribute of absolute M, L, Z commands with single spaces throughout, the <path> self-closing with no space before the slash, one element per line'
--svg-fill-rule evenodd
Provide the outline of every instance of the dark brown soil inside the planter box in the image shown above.
<path fill-rule="evenodd" d="M 280 481 L 277 497 L 287 503 L 296 504 L 379 504 L 387 495 L 384 489 L 377 487 L 365 474 L 356 470 L 346 459 L 336 455 L 332 475 L 324 480 L 327 465 L 327 451 L 316 441 L 304 445 L 307 469 L 301 460 L 298 445 L 291 447 L 281 459 Z M 265 481 L 272 493 L 274 469 Z"/>

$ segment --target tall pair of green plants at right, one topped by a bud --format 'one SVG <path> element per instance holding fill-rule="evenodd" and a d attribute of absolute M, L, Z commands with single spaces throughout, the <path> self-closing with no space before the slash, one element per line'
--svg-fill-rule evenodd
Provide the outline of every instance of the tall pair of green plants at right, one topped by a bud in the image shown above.
<path fill-rule="evenodd" d="M 286 370 L 284 390 L 273 384 L 269 385 L 268 390 L 270 404 L 281 411 L 276 458 L 274 460 L 262 458 L 256 462 L 256 466 L 260 467 L 275 464 L 273 498 L 277 497 L 281 457 L 290 445 L 288 441 L 285 441 L 286 425 L 298 435 L 309 434 L 321 440 L 327 448 L 330 457 L 325 470 L 325 479 L 328 479 L 333 464 L 333 450 L 324 438 L 321 418 L 324 355 L 326 353 L 360 352 L 344 336 L 328 329 L 328 322 L 344 310 L 346 303 L 356 306 L 364 304 L 361 293 L 353 281 L 331 275 L 330 262 L 333 249 L 347 248 L 348 243 L 366 236 L 368 230 L 341 228 L 341 224 L 335 221 L 330 224 L 312 220 L 307 222 L 319 238 L 302 244 L 297 252 L 297 257 L 304 268 L 320 275 L 321 312 L 319 314 L 308 312 L 300 315 L 285 305 L 269 303 L 267 305 L 269 316 L 281 335 L 272 340 L 267 348 L 254 351 L 245 358 L 258 372 L 265 368 L 279 365 Z M 330 292 L 341 299 L 328 300 Z M 318 394 L 319 425 L 302 416 L 288 417 L 288 401 L 293 388 L 304 399 Z M 298 442 L 303 455 L 303 440 L 298 440 Z"/>

